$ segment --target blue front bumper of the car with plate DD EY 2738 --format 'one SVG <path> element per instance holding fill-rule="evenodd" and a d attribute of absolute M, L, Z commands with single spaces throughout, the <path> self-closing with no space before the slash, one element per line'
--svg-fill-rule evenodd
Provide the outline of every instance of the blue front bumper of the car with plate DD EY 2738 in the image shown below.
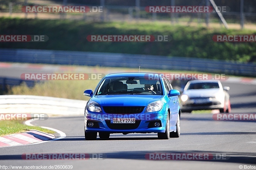
<path fill-rule="evenodd" d="M 137 114 L 108 114 L 85 111 L 85 132 L 108 133 L 159 133 L 165 132 L 166 113 L 164 109 L 159 112 Z M 110 123 L 111 118 L 135 118 L 135 123 Z M 154 127 L 155 122 L 159 127 Z M 88 122 L 95 126 L 89 127 Z M 153 125 L 153 126 L 152 126 Z"/>

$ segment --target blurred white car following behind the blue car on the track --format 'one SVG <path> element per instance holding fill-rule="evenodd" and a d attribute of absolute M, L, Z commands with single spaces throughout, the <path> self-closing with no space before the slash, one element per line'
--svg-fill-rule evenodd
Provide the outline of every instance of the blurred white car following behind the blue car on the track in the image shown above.
<path fill-rule="evenodd" d="M 228 90 L 229 87 L 222 87 L 217 80 L 188 81 L 180 97 L 181 111 L 219 109 L 221 113 L 230 113 Z"/>

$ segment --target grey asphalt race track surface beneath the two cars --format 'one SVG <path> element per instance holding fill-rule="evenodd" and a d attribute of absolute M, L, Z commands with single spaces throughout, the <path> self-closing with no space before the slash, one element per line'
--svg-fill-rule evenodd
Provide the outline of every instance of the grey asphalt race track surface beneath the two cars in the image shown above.
<path fill-rule="evenodd" d="M 255 85 L 222 84 L 230 87 L 232 113 L 255 113 Z M 212 115 L 182 113 L 180 137 L 169 140 L 158 140 L 156 134 L 111 134 L 108 140 L 98 137 L 96 141 L 85 141 L 83 116 L 34 121 L 34 125 L 61 130 L 67 137 L 0 148 L 0 168 L 10 165 L 72 165 L 72 169 L 240 169 L 240 165 L 244 169 L 244 165 L 256 166 L 256 121 L 216 121 Z M 24 153 L 102 153 L 104 158 L 24 160 L 21 158 Z M 145 158 L 148 153 L 204 153 L 222 154 L 224 157 L 211 160 L 148 160 Z"/>

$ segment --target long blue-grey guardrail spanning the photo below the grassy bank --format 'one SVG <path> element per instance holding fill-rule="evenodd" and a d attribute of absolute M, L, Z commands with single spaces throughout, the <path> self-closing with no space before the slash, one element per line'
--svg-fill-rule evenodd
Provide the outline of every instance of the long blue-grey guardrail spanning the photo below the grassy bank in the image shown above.
<path fill-rule="evenodd" d="M 204 58 L 169 57 L 139 54 L 100 53 L 81 51 L 0 49 L 0 61 L 60 65 L 86 65 L 225 73 L 253 76 L 255 63 L 238 63 Z"/>

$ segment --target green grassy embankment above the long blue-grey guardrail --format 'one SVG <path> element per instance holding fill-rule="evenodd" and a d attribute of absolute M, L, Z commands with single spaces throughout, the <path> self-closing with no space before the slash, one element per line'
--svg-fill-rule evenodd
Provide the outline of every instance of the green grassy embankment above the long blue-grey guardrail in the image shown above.
<path fill-rule="evenodd" d="M 74 50 L 256 61 L 256 43 L 214 42 L 213 35 L 255 35 L 234 30 L 170 23 L 86 22 L 76 20 L 0 18 L 0 35 L 47 35 L 44 43 L 2 42 L 0 48 Z M 88 35 L 169 35 L 170 42 L 89 42 Z"/>

